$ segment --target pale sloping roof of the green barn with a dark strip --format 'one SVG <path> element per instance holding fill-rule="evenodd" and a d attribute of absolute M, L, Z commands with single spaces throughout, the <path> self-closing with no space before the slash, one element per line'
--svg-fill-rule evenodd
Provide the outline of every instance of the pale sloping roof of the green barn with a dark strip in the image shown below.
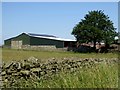
<path fill-rule="evenodd" d="M 52 40 L 59 40 L 59 41 L 76 41 L 72 39 L 64 39 L 64 38 L 59 38 L 53 35 L 47 35 L 47 34 L 33 34 L 33 33 L 27 33 L 27 35 L 32 36 L 32 37 L 37 37 L 37 38 L 45 38 L 45 39 L 52 39 Z"/>

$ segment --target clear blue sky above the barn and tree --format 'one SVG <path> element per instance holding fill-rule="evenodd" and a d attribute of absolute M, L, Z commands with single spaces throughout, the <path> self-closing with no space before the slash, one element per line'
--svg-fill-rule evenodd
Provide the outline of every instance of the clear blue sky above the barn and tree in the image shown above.
<path fill-rule="evenodd" d="M 73 27 L 91 10 L 104 10 L 118 28 L 117 2 L 3 2 L 0 44 L 22 32 L 74 39 Z"/>

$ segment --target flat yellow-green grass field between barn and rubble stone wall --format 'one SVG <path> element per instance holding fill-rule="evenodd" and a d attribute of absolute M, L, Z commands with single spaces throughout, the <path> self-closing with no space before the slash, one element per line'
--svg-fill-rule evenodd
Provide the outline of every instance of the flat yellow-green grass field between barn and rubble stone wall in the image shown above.
<path fill-rule="evenodd" d="M 78 58 L 118 58 L 118 54 L 114 53 L 74 53 L 74 52 L 58 52 L 58 51 L 23 51 L 23 50 L 2 50 L 2 60 L 9 62 L 11 60 L 23 60 L 29 57 L 36 57 L 38 59 L 48 58 L 64 58 L 64 57 L 78 57 Z"/>

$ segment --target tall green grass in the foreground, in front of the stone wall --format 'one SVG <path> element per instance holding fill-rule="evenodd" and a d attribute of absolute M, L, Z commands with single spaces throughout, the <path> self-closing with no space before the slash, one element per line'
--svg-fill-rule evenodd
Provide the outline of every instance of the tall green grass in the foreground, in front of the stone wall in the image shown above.
<path fill-rule="evenodd" d="M 101 63 L 76 72 L 60 72 L 48 79 L 18 80 L 17 87 L 29 88 L 117 88 L 118 65 Z"/>

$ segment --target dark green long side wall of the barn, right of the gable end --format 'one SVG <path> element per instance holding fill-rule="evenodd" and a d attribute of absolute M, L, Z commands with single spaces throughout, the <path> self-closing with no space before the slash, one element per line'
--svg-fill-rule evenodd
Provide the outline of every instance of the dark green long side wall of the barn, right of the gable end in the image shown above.
<path fill-rule="evenodd" d="M 43 38 L 30 38 L 30 45 L 55 45 L 56 48 L 63 48 L 63 41 L 51 40 L 51 39 L 43 39 Z"/>

